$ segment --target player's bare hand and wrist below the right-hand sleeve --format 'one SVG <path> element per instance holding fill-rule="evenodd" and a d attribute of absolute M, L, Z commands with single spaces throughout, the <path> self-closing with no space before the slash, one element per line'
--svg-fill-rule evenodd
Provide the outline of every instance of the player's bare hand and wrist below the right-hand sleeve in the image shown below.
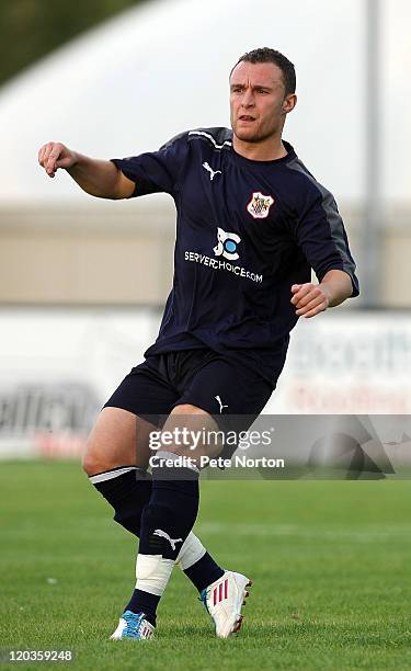
<path fill-rule="evenodd" d="M 353 293 L 353 283 L 347 273 L 330 270 L 320 284 L 293 284 L 292 304 L 298 317 L 315 317 L 329 307 L 343 303 Z"/>

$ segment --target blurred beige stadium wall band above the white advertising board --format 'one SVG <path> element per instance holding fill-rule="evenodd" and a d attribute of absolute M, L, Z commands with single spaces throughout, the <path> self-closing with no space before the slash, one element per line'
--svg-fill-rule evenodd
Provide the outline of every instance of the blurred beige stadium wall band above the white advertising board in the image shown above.
<path fill-rule="evenodd" d="M 364 213 L 341 208 L 361 270 Z M 411 211 L 388 211 L 381 230 L 380 305 L 411 305 Z M 163 305 L 175 237 L 170 200 L 99 207 L 0 209 L 0 302 L 7 305 Z M 399 292 L 398 287 L 401 286 Z M 361 305 L 361 299 L 356 306 Z"/>

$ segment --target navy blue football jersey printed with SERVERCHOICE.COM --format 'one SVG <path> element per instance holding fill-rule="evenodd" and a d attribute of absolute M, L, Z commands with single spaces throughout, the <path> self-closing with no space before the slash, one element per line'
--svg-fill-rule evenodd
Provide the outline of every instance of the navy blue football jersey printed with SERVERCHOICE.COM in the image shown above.
<path fill-rule="evenodd" d="M 149 354 L 209 346 L 275 384 L 298 317 L 293 284 L 355 263 L 333 196 L 293 147 L 273 161 L 247 159 L 232 132 L 182 133 L 159 151 L 113 159 L 133 196 L 169 193 L 176 207 L 174 281 Z"/>

